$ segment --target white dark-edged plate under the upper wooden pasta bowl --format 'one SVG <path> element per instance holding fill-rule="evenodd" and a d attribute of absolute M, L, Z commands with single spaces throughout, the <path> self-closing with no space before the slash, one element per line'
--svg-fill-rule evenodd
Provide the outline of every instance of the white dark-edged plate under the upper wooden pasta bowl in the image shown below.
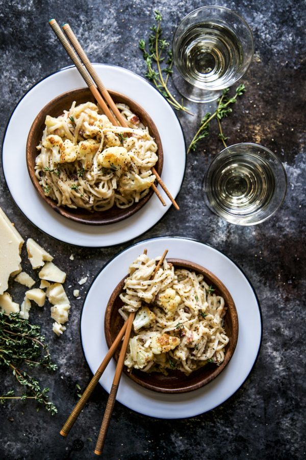
<path fill-rule="evenodd" d="M 162 179 L 175 198 L 184 177 L 186 148 L 174 111 L 144 78 L 113 65 L 94 64 L 94 67 L 107 88 L 130 97 L 150 114 L 163 145 Z M 59 215 L 42 200 L 31 182 L 25 161 L 28 133 L 38 112 L 56 96 L 84 86 L 82 77 L 72 66 L 46 77 L 30 89 L 15 108 L 7 126 L 2 150 L 3 170 L 17 206 L 43 232 L 76 246 L 112 246 L 136 238 L 155 225 L 171 205 L 168 197 L 165 196 L 167 206 L 163 206 L 154 194 L 140 211 L 111 225 L 80 224 Z"/>

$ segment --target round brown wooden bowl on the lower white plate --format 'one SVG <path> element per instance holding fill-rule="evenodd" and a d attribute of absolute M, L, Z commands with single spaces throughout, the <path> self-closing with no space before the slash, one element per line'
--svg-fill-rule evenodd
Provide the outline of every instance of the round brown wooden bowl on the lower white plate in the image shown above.
<path fill-rule="evenodd" d="M 211 382 L 223 371 L 228 361 L 232 358 L 238 338 L 238 316 L 230 292 L 228 292 L 224 284 L 221 283 L 221 281 L 213 273 L 200 265 L 185 260 L 167 259 L 167 261 L 171 262 L 175 268 L 187 268 L 195 271 L 196 273 L 202 274 L 205 281 L 215 288 L 215 293 L 224 298 L 225 307 L 227 307 L 227 311 L 224 316 L 224 329 L 226 335 L 230 338 L 230 341 L 226 346 L 224 361 L 219 366 L 216 366 L 213 363 L 208 363 L 200 369 L 192 372 L 189 376 L 186 376 L 181 371 L 175 370 L 169 371 L 169 375 L 167 376 L 157 372 L 147 374 L 137 369 L 133 369 L 132 372 L 128 372 L 126 366 L 123 367 L 123 372 L 134 380 L 134 382 L 155 392 L 187 393 Z M 119 294 L 123 291 L 125 278 L 126 277 L 124 277 L 114 289 L 105 312 L 104 328 L 109 348 L 123 325 L 123 319 L 118 313 L 118 309 L 123 305 Z M 118 360 L 118 357 L 119 350 L 117 350 L 114 355 L 116 361 Z"/>

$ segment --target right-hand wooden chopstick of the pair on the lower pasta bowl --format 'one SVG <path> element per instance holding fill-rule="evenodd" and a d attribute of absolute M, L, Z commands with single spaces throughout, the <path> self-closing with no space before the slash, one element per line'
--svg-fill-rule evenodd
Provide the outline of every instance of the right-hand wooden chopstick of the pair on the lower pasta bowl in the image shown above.
<path fill-rule="evenodd" d="M 165 250 L 164 254 L 160 258 L 160 260 L 159 260 L 159 262 L 158 262 L 158 264 L 157 264 L 157 266 L 156 266 L 156 268 L 154 270 L 154 273 L 152 274 L 151 279 L 154 278 L 155 273 L 160 269 L 161 265 L 163 264 L 163 262 L 165 260 L 165 257 L 167 255 L 167 252 L 168 252 L 168 249 Z M 96 455 L 101 455 L 101 453 L 103 451 L 107 431 L 108 431 L 108 428 L 109 428 L 109 425 L 110 425 L 110 421 L 111 421 L 111 417 L 112 417 L 112 413 L 113 413 L 113 409 L 114 409 L 114 405 L 115 405 L 115 401 L 116 401 L 116 395 L 117 395 L 118 386 L 119 386 L 119 383 L 120 383 L 120 377 L 121 377 L 122 369 L 123 369 L 123 365 L 124 365 L 124 358 L 125 358 L 127 347 L 129 346 L 130 335 L 131 335 L 131 331 L 132 331 L 132 327 L 133 327 L 134 318 L 135 318 L 135 312 L 130 313 L 129 318 L 126 321 L 126 323 L 127 323 L 126 332 L 125 332 L 125 335 L 124 335 L 123 344 L 122 344 L 122 348 L 121 348 L 121 351 L 120 351 L 120 355 L 119 355 L 119 359 L 118 359 L 118 363 L 117 363 L 117 367 L 116 367 L 116 372 L 115 372 L 113 384 L 112 384 L 111 391 L 110 391 L 110 394 L 109 394 L 109 398 L 108 398 L 108 401 L 107 401 L 107 404 L 106 404 L 103 421 L 101 423 L 97 443 L 96 443 L 96 446 L 95 446 L 95 449 L 94 449 L 94 453 Z"/>

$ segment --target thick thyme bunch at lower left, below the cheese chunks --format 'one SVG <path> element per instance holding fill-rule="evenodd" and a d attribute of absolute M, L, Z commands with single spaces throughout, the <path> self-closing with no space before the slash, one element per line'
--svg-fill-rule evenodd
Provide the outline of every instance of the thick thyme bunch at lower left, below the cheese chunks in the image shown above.
<path fill-rule="evenodd" d="M 57 408 L 48 401 L 49 388 L 41 388 L 38 380 L 20 368 L 22 364 L 28 367 L 43 366 L 49 371 L 57 369 L 57 365 L 51 361 L 44 337 L 40 335 L 40 327 L 31 325 L 27 319 L 20 318 L 18 313 L 7 315 L 0 311 L 0 369 L 9 367 L 17 382 L 25 387 L 21 396 L 15 396 L 13 389 L 0 396 L 0 404 L 13 399 L 35 399 L 54 415 Z"/>

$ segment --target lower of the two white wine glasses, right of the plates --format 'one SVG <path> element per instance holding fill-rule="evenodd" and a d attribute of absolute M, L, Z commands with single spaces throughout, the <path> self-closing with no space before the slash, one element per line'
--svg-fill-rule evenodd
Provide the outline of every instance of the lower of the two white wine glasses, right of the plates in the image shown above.
<path fill-rule="evenodd" d="M 202 191 L 207 206 L 221 218 L 253 225 L 272 216 L 283 203 L 287 176 L 282 163 L 266 147 L 235 144 L 210 164 Z"/>

